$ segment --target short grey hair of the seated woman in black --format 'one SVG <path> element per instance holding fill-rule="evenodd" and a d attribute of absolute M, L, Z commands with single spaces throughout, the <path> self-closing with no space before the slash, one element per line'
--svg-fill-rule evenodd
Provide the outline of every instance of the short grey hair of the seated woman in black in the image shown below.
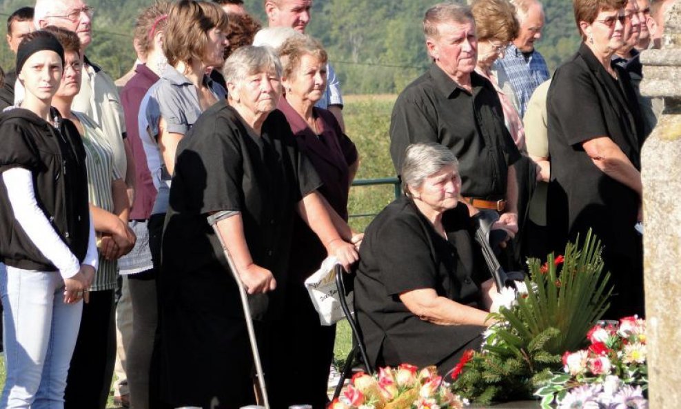
<path fill-rule="evenodd" d="M 402 161 L 402 190 L 411 197 L 409 186 L 418 188 L 427 177 L 445 166 L 459 167 L 456 156 L 446 146 L 434 142 L 409 145 Z"/>

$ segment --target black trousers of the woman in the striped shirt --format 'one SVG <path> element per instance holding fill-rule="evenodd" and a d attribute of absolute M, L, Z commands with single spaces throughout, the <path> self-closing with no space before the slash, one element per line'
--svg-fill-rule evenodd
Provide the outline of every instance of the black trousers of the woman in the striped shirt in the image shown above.
<path fill-rule="evenodd" d="M 90 292 L 66 380 L 65 409 L 103 409 L 116 357 L 114 290 Z"/>

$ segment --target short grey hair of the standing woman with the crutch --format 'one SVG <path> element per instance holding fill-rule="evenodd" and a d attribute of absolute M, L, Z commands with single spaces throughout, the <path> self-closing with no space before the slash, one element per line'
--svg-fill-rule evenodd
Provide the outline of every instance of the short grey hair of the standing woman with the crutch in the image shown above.
<path fill-rule="evenodd" d="M 223 75 L 227 83 L 241 83 L 252 74 L 274 71 L 281 78 L 281 62 L 269 47 L 244 46 L 225 61 Z"/>

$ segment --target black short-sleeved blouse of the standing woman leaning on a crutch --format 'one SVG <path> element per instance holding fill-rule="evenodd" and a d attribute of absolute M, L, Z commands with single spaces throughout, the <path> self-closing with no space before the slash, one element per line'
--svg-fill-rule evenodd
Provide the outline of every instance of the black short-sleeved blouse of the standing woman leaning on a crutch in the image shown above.
<path fill-rule="evenodd" d="M 284 283 L 296 204 L 319 186 L 280 111 L 270 113 L 259 137 L 225 101 L 205 111 L 178 147 L 163 232 L 164 299 L 188 297 L 194 308 L 241 316 L 236 284 L 207 215 L 241 212 L 254 263 Z M 278 286 L 251 296 L 254 318 L 276 315 L 284 292 Z"/>

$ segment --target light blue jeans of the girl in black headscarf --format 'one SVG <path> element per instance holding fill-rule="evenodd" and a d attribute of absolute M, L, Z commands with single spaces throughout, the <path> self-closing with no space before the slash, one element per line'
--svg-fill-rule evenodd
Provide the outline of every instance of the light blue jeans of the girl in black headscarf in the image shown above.
<path fill-rule="evenodd" d="M 0 271 L 7 380 L 0 409 L 63 409 L 83 301 L 63 301 L 59 272 Z"/>

